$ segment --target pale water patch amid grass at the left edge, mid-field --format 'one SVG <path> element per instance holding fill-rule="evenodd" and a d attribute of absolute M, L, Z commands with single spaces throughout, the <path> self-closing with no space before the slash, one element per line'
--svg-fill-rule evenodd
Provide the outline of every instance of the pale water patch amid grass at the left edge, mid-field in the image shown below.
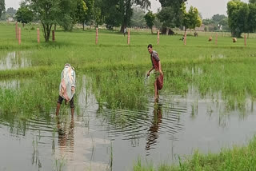
<path fill-rule="evenodd" d="M 31 61 L 24 58 L 23 52 L 10 52 L 4 58 L 0 58 L 0 70 L 15 70 L 31 66 Z"/>

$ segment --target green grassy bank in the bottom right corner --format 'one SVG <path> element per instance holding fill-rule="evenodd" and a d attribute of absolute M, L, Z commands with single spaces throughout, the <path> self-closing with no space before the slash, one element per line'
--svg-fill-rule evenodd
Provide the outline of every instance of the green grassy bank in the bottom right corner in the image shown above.
<path fill-rule="evenodd" d="M 161 164 L 154 166 L 153 162 L 142 165 L 141 159 L 134 164 L 134 171 L 187 171 L 187 170 L 255 170 L 256 169 L 256 137 L 246 146 L 234 146 L 232 149 L 222 149 L 220 153 L 202 154 L 195 151 L 192 156 L 180 159 L 179 165 Z"/>

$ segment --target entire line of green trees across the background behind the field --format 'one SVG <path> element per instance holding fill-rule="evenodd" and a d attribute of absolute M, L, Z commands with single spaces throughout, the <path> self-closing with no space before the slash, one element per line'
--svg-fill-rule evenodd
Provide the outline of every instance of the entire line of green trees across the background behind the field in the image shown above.
<path fill-rule="evenodd" d="M 121 32 L 128 26 L 148 26 L 151 30 L 157 26 L 162 34 L 174 33 L 171 30 L 174 27 L 194 29 L 203 23 L 206 31 L 216 31 L 218 26 L 223 26 L 223 30 L 230 30 L 234 37 L 256 30 L 256 0 L 249 3 L 231 0 L 227 3 L 228 18 L 216 14 L 204 20 L 197 8 L 190 6 L 186 10 L 186 1 L 159 0 L 162 8 L 154 14 L 148 10 L 150 0 L 23 0 L 17 11 L 13 8 L 6 10 L 5 0 L 0 0 L 0 17 L 2 14 L 5 18 L 14 17 L 15 14 L 18 22 L 40 21 L 46 42 L 54 27 L 62 26 L 63 30 L 70 31 L 76 23 L 82 24 L 83 29 L 85 25 L 98 27 L 105 24 L 109 30 L 120 27 Z"/>

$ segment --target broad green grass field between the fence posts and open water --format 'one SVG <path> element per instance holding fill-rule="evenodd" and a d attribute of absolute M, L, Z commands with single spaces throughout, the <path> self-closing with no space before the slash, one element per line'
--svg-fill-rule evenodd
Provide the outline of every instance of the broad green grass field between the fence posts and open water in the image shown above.
<path fill-rule="evenodd" d="M 22 27 L 22 26 L 21 26 Z M 0 23 L 0 60 L 8 52 L 22 52 L 20 58 L 30 60 L 31 66 L 17 70 L 0 70 L 0 79 L 30 79 L 19 89 L 1 89 L 1 110 L 11 113 L 54 113 L 58 96 L 59 77 L 65 63 L 75 67 L 78 84 L 82 75 L 90 80 L 90 89 L 100 107 L 110 109 L 144 109 L 153 85 L 144 79 L 150 69 L 147 45 L 152 43 L 162 60 L 165 85 L 162 93 L 186 95 L 191 85 L 202 97 L 221 92 L 227 109 L 244 109 L 246 98 L 256 96 L 256 39 L 254 35 L 243 45 L 243 39 L 233 43 L 231 38 L 218 36 L 218 45 L 208 42 L 208 34 L 189 36 L 187 45 L 177 36 L 160 36 L 131 30 L 127 37 L 117 31 L 99 30 L 95 45 L 95 30 L 56 31 L 56 42 L 38 44 L 38 25 L 22 27 L 22 45 L 15 38 L 14 23 Z M 79 88 L 78 85 L 78 89 Z M 79 90 L 77 91 L 79 93 Z M 37 96 L 34 96 L 37 94 Z M 24 101 L 26 97 L 26 101 Z M 15 101 L 15 104 L 12 102 Z"/>

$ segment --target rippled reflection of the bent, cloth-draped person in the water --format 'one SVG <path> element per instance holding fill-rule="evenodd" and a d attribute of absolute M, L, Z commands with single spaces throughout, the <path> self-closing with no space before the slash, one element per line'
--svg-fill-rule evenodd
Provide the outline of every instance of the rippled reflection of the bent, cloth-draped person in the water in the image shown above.
<path fill-rule="evenodd" d="M 58 119 L 58 145 L 61 153 L 74 152 L 74 115 L 71 115 L 70 125 Z"/>

